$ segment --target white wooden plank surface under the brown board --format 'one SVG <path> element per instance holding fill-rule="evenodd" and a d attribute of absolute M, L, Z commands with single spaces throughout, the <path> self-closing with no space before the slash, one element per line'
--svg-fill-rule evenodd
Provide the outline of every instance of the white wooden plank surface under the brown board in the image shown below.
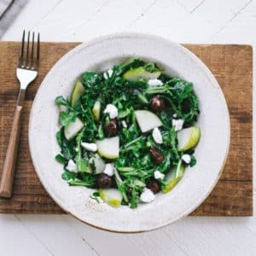
<path fill-rule="evenodd" d="M 44 41 L 131 31 L 179 43 L 255 46 L 256 0 L 31 0 L 3 40 L 20 40 L 23 28 L 40 31 Z M 0 215 L 0 250 L 5 256 L 256 255 L 256 218 L 189 217 L 120 235 L 65 215 Z"/>

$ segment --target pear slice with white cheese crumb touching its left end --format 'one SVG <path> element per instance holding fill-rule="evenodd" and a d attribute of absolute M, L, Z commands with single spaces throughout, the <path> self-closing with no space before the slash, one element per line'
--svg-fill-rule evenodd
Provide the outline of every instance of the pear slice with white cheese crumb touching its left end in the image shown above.
<path fill-rule="evenodd" d="M 98 154 L 107 159 L 119 157 L 119 137 L 109 137 L 96 141 Z"/>

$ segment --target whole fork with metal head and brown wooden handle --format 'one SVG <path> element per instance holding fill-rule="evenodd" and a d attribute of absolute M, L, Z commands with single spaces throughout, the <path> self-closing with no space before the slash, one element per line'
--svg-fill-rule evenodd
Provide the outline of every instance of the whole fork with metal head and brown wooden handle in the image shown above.
<path fill-rule="evenodd" d="M 0 182 L 0 196 L 3 197 L 10 197 L 12 195 L 16 159 L 20 141 L 20 120 L 26 87 L 38 76 L 40 35 L 38 33 L 38 42 L 35 43 L 35 33 L 32 32 L 32 43 L 30 43 L 30 34 L 30 32 L 27 33 L 27 42 L 25 43 L 26 32 L 25 30 L 23 31 L 18 67 L 16 69 L 16 76 L 20 81 L 20 93 L 15 107 L 15 115 Z"/>

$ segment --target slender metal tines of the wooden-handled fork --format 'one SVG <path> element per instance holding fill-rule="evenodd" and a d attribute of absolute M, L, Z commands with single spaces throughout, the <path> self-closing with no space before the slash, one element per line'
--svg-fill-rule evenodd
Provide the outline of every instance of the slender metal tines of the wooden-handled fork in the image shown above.
<path fill-rule="evenodd" d="M 35 32 L 32 32 L 32 44 L 30 45 L 30 33 L 30 31 L 27 33 L 27 41 L 25 42 L 26 31 L 23 31 L 18 67 L 37 70 L 40 56 L 40 34 L 38 33 L 38 40 L 35 43 Z"/>

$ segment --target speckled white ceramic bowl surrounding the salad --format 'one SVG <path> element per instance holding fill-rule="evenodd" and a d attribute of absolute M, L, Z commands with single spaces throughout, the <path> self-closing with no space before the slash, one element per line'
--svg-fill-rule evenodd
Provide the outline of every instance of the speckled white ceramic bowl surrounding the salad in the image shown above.
<path fill-rule="evenodd" d="M 201 141 L 196 147 L 197 165 L 166 195 L 135 210 L 113 208 L 90 199 L 91 190 L 69 187 L 61 179 L 62 166 L 55 161 L 60 150 L 56 96 L 69 96 L 84 71 L 103 71 L 127 57 L 155 61 L 165 73 L 195 84 L 200 99 Z M 42 60 L 44 61 L 44 60 Z M 188 49 L 155 36 L 127 33 L 80 44 L 58 61 L 41 84 L 32 106 L 29 145 L 32 161 L 44 188 L 66 212 L 104 230 L 137 232 L 153 230 L 187 216 L 218 182 L 230 144 L 230 118 L 222 90 L 207 67 Z"/>

